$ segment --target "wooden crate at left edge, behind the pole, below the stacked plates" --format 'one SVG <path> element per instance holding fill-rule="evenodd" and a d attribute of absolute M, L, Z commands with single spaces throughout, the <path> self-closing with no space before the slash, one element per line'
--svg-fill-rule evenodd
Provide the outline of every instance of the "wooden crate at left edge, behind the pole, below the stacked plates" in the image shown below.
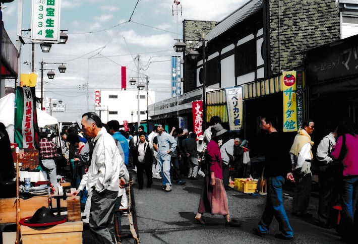
<path fill-rule="evenodd" d="M 15 198 L 0 199 L 0 223 L 16 223 Z M 48 196 L 36 196 L 30 199 L 20 199 L 20 218 L 32 216 L 37 209 L 45 206 L 48 208 Z"/>

